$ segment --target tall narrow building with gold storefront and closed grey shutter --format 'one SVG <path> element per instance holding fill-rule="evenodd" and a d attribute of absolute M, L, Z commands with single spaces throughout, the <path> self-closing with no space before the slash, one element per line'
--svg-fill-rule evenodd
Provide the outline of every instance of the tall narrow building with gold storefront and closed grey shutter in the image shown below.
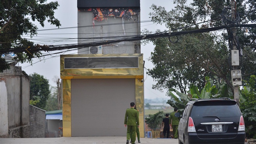
<path fill-rule="evenodd" d="M 139 0 L 78 0 L 78 43 L 140 34 Z M 144 136 L 144 71 L 140 41 L 90 46 L 61 55 L 63 136 L 126 136 L 130 102 Z"/>

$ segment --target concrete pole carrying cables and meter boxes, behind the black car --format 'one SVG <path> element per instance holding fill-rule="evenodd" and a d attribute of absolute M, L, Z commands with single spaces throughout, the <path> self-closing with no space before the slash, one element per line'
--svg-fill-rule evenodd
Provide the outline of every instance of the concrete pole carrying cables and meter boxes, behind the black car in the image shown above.
<path fill-rule="evenodd" d="M 231 18 L 232 18 L 232 21 L 235 21 L 236 20 L 236 3 L 235 3 L 235 0 L 231 0 L 230 2 L 230 5 L 231 5 Z M 235 56 L 235 59 L 237 60 L 238 58 L 238 64 L 234 64 L 233 63 L 233 60 L 232 60 L 232 66 L 233 66 L 233 71 L 231 71 L 231 75 L 237 75 L 237 72 L 240 72 L 238 75 L 241 76 L 241 71 L 235 71 L 238 69 L 239 67 L 239 51 L 237 50 L 237 40 L 236 40 L 236 28 L 235 27 L 232 27 L 231 28 L 231 32 L 232 32 L 232 58 Z M 234 53 L 233 53 L 234 52 Z M 238 57 L 237 57 L 238 56 Z M 237 102 L 237 105 L 239 106 L 239 85 L 240 84 L 237 84 L 237 83 L 234 83 L 234 81 L 238 80 L 238 81 L 241 81 L 241 85 L 242 85 L 242 77 L 241 79 L 239 80 L 238 79 L 235 79 L 235 78 L 232 78 L 232 85 L 234 86 L 234 100 Z"/>

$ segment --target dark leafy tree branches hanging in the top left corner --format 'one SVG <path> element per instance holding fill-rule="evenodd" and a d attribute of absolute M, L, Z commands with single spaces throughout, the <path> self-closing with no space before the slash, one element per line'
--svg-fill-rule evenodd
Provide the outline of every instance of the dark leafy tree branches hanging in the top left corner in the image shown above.
<path fill-rule="evenodd" d="M 42 46 L 34 46 L 30 40 L 23 38 L 23 34 L 33 37 L 37 34 L 37 26 L 31 21 L 38 21 L 44 27 L 44 21 L 59 27 L 61 24 L 54 17 L 54 10 L 58 2 L 46 3 L 47 0 L 1 0 L 0 2 L 0 55 L 5 54 L 1 50 L 10 50 L 16 54 L 15 60 L 30 62 L 32 58 L 41 56 L 38 52 Z M 26 53 L 20 52 L 27 48 Z M 34 48 L 34 49 L 32 49 Z M 9 69 L 5 59 L 0 58 L 0 72 Z"/>

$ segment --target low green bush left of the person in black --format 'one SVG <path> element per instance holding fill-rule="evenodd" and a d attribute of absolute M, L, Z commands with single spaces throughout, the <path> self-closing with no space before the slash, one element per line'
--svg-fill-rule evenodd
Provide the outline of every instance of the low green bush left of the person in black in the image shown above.
<path fill-rule="evenodd" d="M 159 130 L 161 128 L 161 123 L 164 117 L 164 112 L 159 111 L 156 114 L 149 114 L 149 117 L 145 118 L 145 122 L 149 128 L 151 128 L 151 130 Z"/>

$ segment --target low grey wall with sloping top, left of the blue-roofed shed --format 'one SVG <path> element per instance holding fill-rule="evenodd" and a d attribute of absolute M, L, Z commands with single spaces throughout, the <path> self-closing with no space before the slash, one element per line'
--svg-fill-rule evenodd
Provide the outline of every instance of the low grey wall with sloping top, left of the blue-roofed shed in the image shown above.
<path fill-rule="evenodd" d="M 45 110 L 30 105 L 30 138 L 45 137 Z"/>

